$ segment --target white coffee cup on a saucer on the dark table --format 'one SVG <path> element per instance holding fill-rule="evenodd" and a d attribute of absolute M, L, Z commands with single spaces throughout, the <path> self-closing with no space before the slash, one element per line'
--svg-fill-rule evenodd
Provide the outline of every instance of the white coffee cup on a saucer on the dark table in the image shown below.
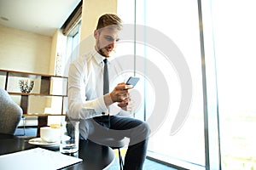
<path fill-rule="evenodd" d="M 60 127 L 41 127 L 40 137 L 45 142 L 57 142 L 61 139 Z"/>

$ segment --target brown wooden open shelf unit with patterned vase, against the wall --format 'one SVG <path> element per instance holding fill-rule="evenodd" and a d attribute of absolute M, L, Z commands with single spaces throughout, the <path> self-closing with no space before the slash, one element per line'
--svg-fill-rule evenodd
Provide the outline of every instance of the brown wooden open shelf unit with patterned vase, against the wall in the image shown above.
<path fill-rule="evenodd" d="M 20 107 L 23 110 L 23 116 L 38 116 L 38 127 L 47 126 L 48 122 L 48 116 L 65 116 L 65 113 L 63 111 L 64 107 L 64 101 L 65 98 L 67 98 L 67 77 L 60 77 L 60 76 L 54 76 L 54 75 L 45 75 L 45 74 L 38 74 L 38 73 L 32 73 L 32 72 L 23 72 L 23 71 L 9 71 L 9 70 L 0 70 L 0 77 L 5 77 L 5 82 L 3 83 L 4 89 L 10 94 L 10 95 L 16 95 L 21 96 L 20 97 Z M 15 81 L 10 81 L 10 79 L 13 78 Z M 32 90 L 31 94 L 23 94 L 19 92 L 19 83 L 18 79 L 33 79 L 40 82 L 39 84 L 35 83 L 35 86 L 38 88 L 38 92 L 35 93 Z M 63 88 L 65 90 L 64 94 L 53 94 L 52 87 L 54 86 L 53 83 L 54 79 L 61 79 L 63 81 L 62 85 L 66 86 Z M 12 82 L 15 82 L 12 83 Z M 9 89 L 10 87 L 15 86 L 15 90 Z M 34 87 L 35 88 L 35 87 Z M 29 113 L 28 112 L 28 103 L 29 103 L 29 97 L 30 96 L 38 96 L 38 97 L 60 97 L 62 100 L 61 105 L 61 112 L 60 113 L 54 113 L 54 114 L 47 114 L 47 113 Z M 39 135 L 39 133 L 38 133 Z"/>

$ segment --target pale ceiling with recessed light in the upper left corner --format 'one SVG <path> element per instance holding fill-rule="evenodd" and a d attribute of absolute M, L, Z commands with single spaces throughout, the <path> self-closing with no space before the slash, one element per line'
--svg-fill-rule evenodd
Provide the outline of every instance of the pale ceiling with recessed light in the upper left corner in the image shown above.
<path fill-rule="evenodd" d="M 0 0 L 0 25 L 52 37 L 81 0 Z"/>

